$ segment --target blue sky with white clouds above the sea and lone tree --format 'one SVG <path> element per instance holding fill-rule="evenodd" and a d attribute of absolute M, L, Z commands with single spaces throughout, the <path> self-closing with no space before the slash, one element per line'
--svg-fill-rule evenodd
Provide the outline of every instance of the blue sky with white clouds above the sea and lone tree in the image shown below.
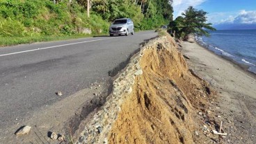
<path fill-rule="evenodd" d="M 219 29 L 256 28 L 256 0 L 173 0 L 174 18 L 189 6 L 208 12 L 208 22 Z"/>

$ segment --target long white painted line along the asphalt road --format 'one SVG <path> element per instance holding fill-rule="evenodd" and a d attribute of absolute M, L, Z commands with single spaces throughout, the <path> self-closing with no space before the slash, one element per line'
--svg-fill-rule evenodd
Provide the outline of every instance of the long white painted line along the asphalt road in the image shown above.
<path fill-rule="evenodd" d="M 106 38 L 106 39 L 113 39 L 113 38 L 117 38 L 117 37 L 111 37 L 111 38 Z M 82 44 L 82 43 L 87 43 L 87 42 L 97 42 L 97 41 L 101 41 L 101 40 L 105 40 L 105 39 L 95 39 L 95 40 L 90 40 L 90 41 L 86 41 L 86 42 L 75 42 L 75 43 L 71 43 L 71 44 L 61 44 L 61 45 L 49 46 L 49 47 L 45 47 L 45 48 L 36 48 L 36 49 L 32 49 L 32 50 L 19 51 L 19 52 L 15 52 L 15 53 L 6 53 L 6 54 L 3 54 L 3 55 L 0 55 L 0 57 L 6 56 L 6 55 L 15 55 L 15 54 L 18 54 L 18 53 L 28 53 L 28 52 L 31 52 L 31 51 L 39 51 L 39 50 L 48 49 L 48 48 L 56 48 L 56 47 L 61 47 L 61 46 L 69 46 L 69 45 L 73 45 L 73 44 Z"/>

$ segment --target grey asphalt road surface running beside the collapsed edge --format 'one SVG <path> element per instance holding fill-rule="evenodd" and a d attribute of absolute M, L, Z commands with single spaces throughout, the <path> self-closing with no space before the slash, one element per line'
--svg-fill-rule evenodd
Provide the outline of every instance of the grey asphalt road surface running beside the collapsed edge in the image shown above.
<path fill-rule="evenodd" d="M 156 36 L 144 31 L 0 48 L 0 132 L 45 105 L 109 79 L 109 71 Z M 56 91 L 63 97 L 56 97 Z"/>

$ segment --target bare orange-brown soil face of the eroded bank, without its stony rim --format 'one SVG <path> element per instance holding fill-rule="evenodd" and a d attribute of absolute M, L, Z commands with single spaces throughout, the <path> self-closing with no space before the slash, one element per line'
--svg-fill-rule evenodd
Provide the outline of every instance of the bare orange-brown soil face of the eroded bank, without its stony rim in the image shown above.
<path fill-rule="evenodd" d="M 189 73 L 170 43 L 147 48 L 141 68 L 143 75 L 122 104 L 109 143 L 193 143 L 193 110 L 205 106 L 206 82 Z"/>

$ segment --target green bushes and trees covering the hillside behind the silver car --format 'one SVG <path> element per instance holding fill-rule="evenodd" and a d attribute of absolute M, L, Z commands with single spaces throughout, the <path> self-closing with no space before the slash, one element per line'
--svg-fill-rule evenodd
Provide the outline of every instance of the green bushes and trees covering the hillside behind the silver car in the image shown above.
<path fill-rule="evenodd" d="M 108 33 L 111 21 L 134 20 L 136 30 L 149 30 L 173 19 L 169 0 L 1 0 L 0 46 L 53 37 Z M 50 38 L 52 37 L 52 38 Z M 15 42 L 15 40 L 17 42 Z"/>

